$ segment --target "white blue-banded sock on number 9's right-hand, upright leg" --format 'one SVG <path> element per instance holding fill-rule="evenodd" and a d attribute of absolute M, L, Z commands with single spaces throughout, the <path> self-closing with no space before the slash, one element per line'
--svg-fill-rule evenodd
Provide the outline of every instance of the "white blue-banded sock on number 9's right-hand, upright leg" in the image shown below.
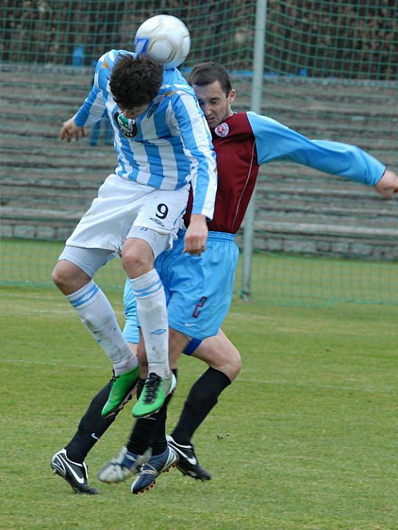
<path fill-rule="evenodd" d="M 153 268 L 149 273 L 132 278 L 131 284 L 144 336 L 148 373 L 169 377 L 169 322 L 162 282 Z"/>

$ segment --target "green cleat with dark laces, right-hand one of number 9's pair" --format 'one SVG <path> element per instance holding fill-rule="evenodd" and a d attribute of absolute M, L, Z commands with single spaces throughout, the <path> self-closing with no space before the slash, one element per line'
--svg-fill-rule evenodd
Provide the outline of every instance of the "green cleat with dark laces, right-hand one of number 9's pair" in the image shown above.
<path fill-rule="evenodd" d="M 150 373 L 146 378 L 140 399 L 133 406 L 134 418 L 145 418 L 158 412 L 166 397 L 176 388 L 176 383 L 177 380 L 173 373 L 165 379 L 157 373 Z"/>

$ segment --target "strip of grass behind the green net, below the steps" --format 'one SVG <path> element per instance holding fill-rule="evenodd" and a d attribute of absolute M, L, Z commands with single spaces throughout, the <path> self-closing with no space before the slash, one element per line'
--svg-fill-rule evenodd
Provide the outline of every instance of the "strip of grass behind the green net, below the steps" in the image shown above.
<path fill-rule="evenodd" d="M 1 284 L 50 286 L 50 275 L 64 248 L 59 241 L 6 239 L 1 242 Z M 258 304 L 325 306 L 359 302 L 398 306 L 398 263 L 357 259 L 254 253 L 252 295 Z M 125 275 L 113 259 L 95 276 L 106 289 L 122 289 Z M 240 290 L 236 274 L 236 297 Z"/>

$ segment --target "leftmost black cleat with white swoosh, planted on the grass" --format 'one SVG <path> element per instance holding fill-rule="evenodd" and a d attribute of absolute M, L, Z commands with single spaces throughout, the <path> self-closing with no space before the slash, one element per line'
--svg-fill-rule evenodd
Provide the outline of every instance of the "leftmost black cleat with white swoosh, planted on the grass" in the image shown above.
<path fill-rule="evenodd" d="M 85 493 L 86 495 L 98 495 L 99 491 L 88 485 L 88 469 L 86 464 L 72 462 L 66 455 L 66 449 L 61 449 L 55 453 L 50 463 L 54 474 L 64 478 L 70 484 L 75 493 Z"/>

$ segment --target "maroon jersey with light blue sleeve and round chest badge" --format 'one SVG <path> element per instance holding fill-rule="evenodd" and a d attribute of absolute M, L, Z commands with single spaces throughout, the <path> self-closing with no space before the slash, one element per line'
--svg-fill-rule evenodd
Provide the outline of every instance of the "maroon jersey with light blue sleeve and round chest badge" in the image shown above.
<path fill-rule="evenodd" d="M 218 187 L 209 230 L 218 232 L 234 234 L 240 228 L 260 164 L 291 160 L 370 186 L 375 186 L 386 170 L 379 160 L 357 146 L 310 140 L 255 112 L 231 115 L 211 135 L 217 155 Z"/>

